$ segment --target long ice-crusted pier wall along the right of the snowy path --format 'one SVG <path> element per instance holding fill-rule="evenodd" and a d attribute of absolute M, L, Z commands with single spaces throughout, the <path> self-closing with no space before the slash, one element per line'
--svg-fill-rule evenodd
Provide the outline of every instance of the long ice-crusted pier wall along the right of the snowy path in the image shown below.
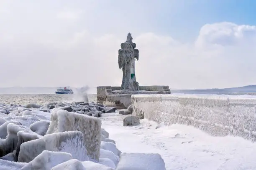
<path fill-rule="evenodd" d="M 133 114 L 166 125 L 191 125 L 215 136 L 256 141 L 256 98 L 220 95 L 132 95 Z"/>

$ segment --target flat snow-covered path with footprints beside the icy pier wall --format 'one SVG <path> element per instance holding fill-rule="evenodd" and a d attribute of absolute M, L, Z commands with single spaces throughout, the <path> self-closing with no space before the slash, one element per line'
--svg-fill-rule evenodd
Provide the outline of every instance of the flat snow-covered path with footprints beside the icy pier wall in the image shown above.
<path fill-rule="evenodd" d="M 123 126 L 124 115 L 103 114 L 102 127 L 127 153 L 159 153 L 166 170 L 255 170 L 256 143 L 238 137 L 212 137 L 186 125 L 141 120 Z"/>

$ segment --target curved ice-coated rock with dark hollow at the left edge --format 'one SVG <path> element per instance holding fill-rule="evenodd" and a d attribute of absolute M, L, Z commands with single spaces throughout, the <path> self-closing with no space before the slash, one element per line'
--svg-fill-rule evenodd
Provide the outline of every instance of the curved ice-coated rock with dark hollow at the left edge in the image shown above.
<path fill-rule="evenodd" d="M 6 139 L 0 139 L 0 157 L 7 155 L 8 153 L 13 152 L 17 148 L 19 148 L 20 142 L 18 141 L 21 132 L 26 132 L 27 134 L 27 140 L 31 139 L 33 140 L 34 135 L 38 136 L 36 133 L 32 132 L 29 128 L 23 126 L 23 125 L 16 125 L 14 123 L 9 123 L 7 125 L 7 138 Z M 31 137 L 32 136 L 32 137 Z M 31 138 L 30 138 L 31 137 Z"/>

